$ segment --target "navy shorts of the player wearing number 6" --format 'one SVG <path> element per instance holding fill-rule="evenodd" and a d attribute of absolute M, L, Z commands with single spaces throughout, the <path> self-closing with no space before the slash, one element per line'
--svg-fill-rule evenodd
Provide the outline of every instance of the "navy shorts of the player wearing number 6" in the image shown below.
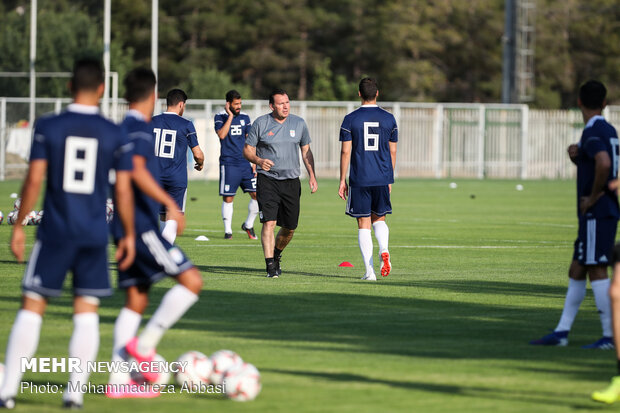
<path fill-rule="evenodd" d="M 354 218 L 369 217 L 371 214 L 380 217 L 391 214 L 390 188 L 388 185 L 349 187 L 345 213 Z"/>

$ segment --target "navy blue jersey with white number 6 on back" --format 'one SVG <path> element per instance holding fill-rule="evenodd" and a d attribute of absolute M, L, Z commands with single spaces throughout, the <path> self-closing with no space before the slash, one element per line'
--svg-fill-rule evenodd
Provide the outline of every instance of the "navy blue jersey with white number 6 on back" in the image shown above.
<path fill-rule="evenodd" d="M 363 105 L 344 117 L 340 141 L 352 141 L 350 186 L 394 182 L 390 142 L 398 142 L 394 115 L 377 105 Z"/>

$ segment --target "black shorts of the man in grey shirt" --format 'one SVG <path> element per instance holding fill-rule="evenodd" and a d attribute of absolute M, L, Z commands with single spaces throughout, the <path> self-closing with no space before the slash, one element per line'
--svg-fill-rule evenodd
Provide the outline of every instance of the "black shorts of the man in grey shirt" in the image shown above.
<path fill-rule="evenodd" d="M 261 223 L 277 221 L 280 227 L 297 228 L 300 197 L 299 178 L 278 180 L 258 174 L 256 200 Z"/>

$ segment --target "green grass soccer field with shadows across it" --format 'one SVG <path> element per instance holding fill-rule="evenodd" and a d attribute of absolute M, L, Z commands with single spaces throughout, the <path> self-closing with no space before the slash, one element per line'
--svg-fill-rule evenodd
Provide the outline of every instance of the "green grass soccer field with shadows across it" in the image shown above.
<path fill-rule="evenodd" d="M 336 180 L 319 180 L 313 195 L 302 183 L 300 226 L 279 279 L 265 278 L 260 242 L 239 229 L 247 195 L 236 198 L 234 237 L 225 241 L 217 182 L 191 182 L 188 198 L 197 199 L 188 201 L 178 244 L 205 286 L 158 352 L 172 361 L 187 350 L 234 350 L 258 367 L 263 390 L 248 403 L 178 391 L 153 400 L 88 394 L 86 411 L 599 411 L 590 393 L 607 385 L 615 358 L 580 348 L 601 336 L 591 292 L 568 347 L 527 344 L 560 316 L 577 232 L 574 182 L 525 181 L 523 191 L 509 180 L 456 180 L 456 189 L 449 182 L 396 182 L 388 218 L 394 269 L 374 283 L 359 280 L 357 227 L 344 215 Z M 9 194 L 19 186 L 0 183 L 5 217 L 14 201 Z M 10 228 L 0 225 L 2 361 L 24 270 L 9 252 Z M 34 228 L 27 234 L 30 248 Z M 194 241 L 198 235 L 210 241 Z M 354 268 L 338 267 L 342 261 Z M 147 317 L 171 285 L 156 285 Z M 118 292 L 102 302 L 98 360 L 110 357 L 122 303 Z M 70 314 L 68 294 L 51 302 L 37 357 L 67 355 Z M 27 373 L 23 380 L 64 385 L 67 378 Z M 91 376 L 92 383 L 106 380 Z M 58 411 L 60 404 L 59 394 L 25 392 L 17 411 Z"/>

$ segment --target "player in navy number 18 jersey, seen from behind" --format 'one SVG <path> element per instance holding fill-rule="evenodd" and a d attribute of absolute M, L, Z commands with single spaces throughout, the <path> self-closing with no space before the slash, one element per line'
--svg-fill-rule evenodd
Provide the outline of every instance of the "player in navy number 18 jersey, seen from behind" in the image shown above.
<path fill-rule="evenodd" d="M 192 150 L 194 169 L 201 171 L 204 154 L 198 146 L 196 128 L 191 120 L 183 118 L 187 95 L 181 89 L 172 89 L 166 96 L 167 109 L 164 113 L 153 116 L 151 121 L 155 135 L 155 155 L 159 159 L 161 170 L 159 183 L 174 199 L 181 213 L 185 212 L 187 199 L 187 148 Z M 166 215 L 162 206 L 160 219 L 164 222 L 162 234 L 174 244 L 177 234 L 177 222 Z"/>

